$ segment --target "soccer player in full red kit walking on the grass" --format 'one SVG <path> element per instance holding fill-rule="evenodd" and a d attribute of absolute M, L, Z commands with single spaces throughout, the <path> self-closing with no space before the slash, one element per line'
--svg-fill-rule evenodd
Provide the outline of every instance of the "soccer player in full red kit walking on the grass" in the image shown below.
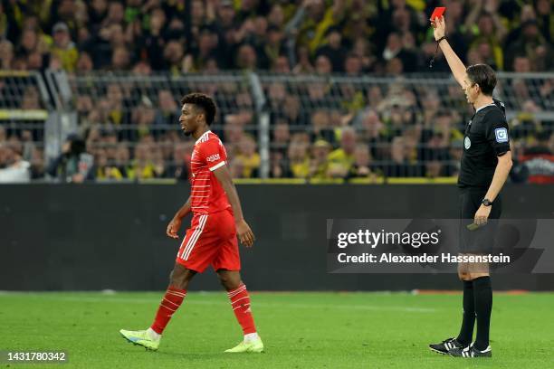
<path fill-rule="evenodd" d="M 231 300 L 234 316 L 242 326 L 244 340 L 226 353 L 261 353 L 262 339 L 256 333 L 250 297 L 241 280 L 241 243 L 252 247 L 254 235 L 244 221 L 241 203 L 226 165 L 225 148 L 210 125 L 215 118 L 215 102 L 201 93 L 186 95 L 181 103 L 179 122 L 186 136 L 196 139 L 191 157 L 191 194 L 167 225 L 167 236 L 177 232 L 186 214 L 192 212 L 191 227 L 177 252 L 169 286 L 152 325 L 141 331 L 121 329 L 129 342 L 157 350 L 167 323 L 186 297 L 188 283 L 209 265 L 216 271 Z"/>

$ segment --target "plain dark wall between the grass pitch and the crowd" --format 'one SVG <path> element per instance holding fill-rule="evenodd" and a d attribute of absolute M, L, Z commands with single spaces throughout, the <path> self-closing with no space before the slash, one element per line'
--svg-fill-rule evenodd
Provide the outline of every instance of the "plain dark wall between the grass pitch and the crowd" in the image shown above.
<path fill-rule="evenodd" d="M 249 289 L 458 289 L 455 275 L 328 274 L 328 218 L 457 218 L 454 185 L 239 185 L 257 241 Z M 0 186 L 0 289 L 164 289 L 186 185 Z M 503 216 L 554 218 L 554 186 L 508 185 Z M 189 219 L 184 223 L 187 225 Z M 185 228 L 184 228 L 185 229 Z M 183 229 L 183 231 L 184 231 Z M 553 241 L 554 243 L 554 241 Z M 554 289 L 554 275 L 498 275 L 495 289 Z M 192 289 L 219 289 L 213 272 Z"/>

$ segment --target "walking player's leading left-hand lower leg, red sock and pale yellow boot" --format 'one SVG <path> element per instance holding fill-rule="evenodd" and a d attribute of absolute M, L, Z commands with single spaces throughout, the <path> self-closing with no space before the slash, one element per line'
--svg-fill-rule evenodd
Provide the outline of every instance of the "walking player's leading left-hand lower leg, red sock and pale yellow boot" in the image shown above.
<path fill-rule="evenodd" d="M 181 306 L 186 297 L 188 282 L 196 275 L 195 270 L 188 270 L 178 262 L 169 277 L 169 286 L 162 298 L 154 322 L 146 330 L 129 331 L 121 329 L 119 333 L 129 342 L 135 345 L 141 345 L 149 350 L 157 350 L 161 335 L 166 329 L 167 323 Z"/>

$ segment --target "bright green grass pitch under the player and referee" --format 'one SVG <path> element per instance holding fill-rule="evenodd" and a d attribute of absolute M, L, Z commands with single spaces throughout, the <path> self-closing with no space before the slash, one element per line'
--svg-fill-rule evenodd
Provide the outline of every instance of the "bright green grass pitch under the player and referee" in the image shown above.
<path fill-rule="evenodd" d="M 0 350 L 66 350 L 75 368 L 552 368 L 554 294 L 496 294 L 492 359 L 437 355 L 427 344 L 457 334 L 460 295 L 252 293 L 266 352 L 228 355 L 242 338 L 224 294 L 192 292 L 158 352 L 119 329 L 148 327 L 161 292 L 2 293 Z M 60 367 L 0 364 L 1 367 Z"/>

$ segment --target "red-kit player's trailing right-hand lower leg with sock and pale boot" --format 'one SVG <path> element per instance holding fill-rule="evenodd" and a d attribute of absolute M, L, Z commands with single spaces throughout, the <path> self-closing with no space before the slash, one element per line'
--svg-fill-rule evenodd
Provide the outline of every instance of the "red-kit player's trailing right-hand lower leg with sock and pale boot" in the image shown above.
<path fill-rule="evenodd" d="M 238 270 L 216 270 L 217 276 L 227 296 L 231 301 L 234 317 L 243 328 L 244 339 L 239 345 L 225 350 L 226 353 L 261 353 L 263 352 L 263 342 L 256 331 L 253 321 L 252 309 L 250 307 L 250 296 L 248 290 L 241 279 L 241 273 Z"/>

